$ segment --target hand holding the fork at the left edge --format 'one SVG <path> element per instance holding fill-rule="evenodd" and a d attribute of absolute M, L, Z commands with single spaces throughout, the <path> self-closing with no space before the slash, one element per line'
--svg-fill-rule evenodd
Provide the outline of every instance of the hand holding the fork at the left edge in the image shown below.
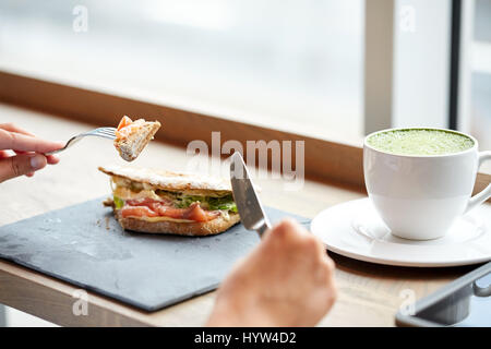
<path fill-rule="evenodd" d="M 0 124 L 0 183 L 19 176 L 34 176 L 46 164 L 58 164 L 53 155 L 44 153 L 63 147 L 62 143 L 44 141 L 12 123 Z"/>

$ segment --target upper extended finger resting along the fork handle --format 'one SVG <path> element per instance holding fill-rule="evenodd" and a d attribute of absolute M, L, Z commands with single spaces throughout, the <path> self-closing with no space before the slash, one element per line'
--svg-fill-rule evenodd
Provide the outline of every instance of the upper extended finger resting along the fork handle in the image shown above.
<path fill-rule="evenodd" d="M 0 149 L 20 152 L 49 153 L 63 147 L 60 142 L 45 141 L 21 133 L 8 132 L 0 129 Z"/>

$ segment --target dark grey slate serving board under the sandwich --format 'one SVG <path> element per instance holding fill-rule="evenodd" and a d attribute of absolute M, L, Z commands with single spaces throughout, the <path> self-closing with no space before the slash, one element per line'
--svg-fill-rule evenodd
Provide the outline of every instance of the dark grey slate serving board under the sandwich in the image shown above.
<path fill-rule="evenodd" d="M 203 238 L 124 231 L 97 198 L 0 227 L 0 257 L 155 311 L 217 288 L 260 239 L 237 225 Z M 266 207 L 272 222 L 290 216 Z"/>

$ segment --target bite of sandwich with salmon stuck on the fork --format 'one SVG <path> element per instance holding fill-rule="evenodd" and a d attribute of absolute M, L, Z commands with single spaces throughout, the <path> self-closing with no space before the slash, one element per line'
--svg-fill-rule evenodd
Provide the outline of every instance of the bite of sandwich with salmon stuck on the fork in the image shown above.
<path fill-rule="evenodd" d="M 124 160 L 133 161 L 153 140 L 159 128 L 158 121 L 145 121 L 145 119 L 132 121 L 124 116 L 116 130 L 115 147 Z"/>

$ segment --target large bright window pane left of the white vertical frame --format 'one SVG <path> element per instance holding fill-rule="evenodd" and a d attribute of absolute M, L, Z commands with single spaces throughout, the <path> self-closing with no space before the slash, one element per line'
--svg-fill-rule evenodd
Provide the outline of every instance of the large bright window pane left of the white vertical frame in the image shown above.
<path fill-rule="evenodd" d="M 358 141 L 363 3 L 2 1 L 0 69 Z"/>

